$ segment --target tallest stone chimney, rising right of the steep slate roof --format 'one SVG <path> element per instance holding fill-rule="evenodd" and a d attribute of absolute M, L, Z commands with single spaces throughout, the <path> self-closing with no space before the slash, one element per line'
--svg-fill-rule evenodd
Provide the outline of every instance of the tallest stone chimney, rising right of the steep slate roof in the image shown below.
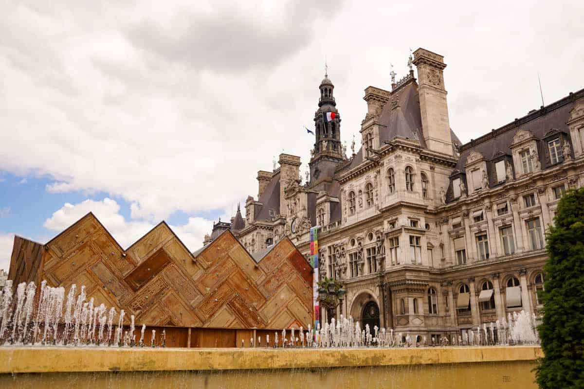
<path fill-rule="evenodd" d="M 452 138 L 444 89 L 444 57 L 419 48 L 413 52 L 418 69 L 422 133 L 430 150 L 452 155 Z"/>

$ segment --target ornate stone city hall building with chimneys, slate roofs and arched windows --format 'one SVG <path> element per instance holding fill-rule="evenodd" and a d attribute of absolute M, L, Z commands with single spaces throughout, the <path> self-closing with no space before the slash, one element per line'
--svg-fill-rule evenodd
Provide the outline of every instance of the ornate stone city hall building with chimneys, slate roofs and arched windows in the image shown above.
<path fill-rule="evenodd" d="M 430 342 L 514 311 L 538 315 L 545 233 L 565 191 L 584 184 L 584 89 L 462 144 L 443 59 L 419 48 L 391 89 L 365 89 L 349 158 L 325 75 L 307 183 L 300 157 L 281 154 L 277 169 L 258 171 L 245 219 L 238 208 L 205 243 L 231 229 L 261 258 L 287 236 L 308 256 L 310 227 L 321 226 L 320 274 L 346 289 L 322 321 L 342 314 Z"/>

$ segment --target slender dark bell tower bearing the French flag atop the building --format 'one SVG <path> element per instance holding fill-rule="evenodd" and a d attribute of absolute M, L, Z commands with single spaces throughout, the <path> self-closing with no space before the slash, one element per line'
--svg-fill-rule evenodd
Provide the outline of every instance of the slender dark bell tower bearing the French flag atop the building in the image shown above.
<path fill-rule="evenodd" d="M 318 110 L 314 114 L 315 142 L 310 160 L 310 184 L 323 177 L 332 177 L 335 167 L 343 161 L 343 146 L 340 141 L 340 115 L 336 109 L 334 96 L 335 86 L 325 72 L 325 78 L 318 87 L 321 96 L 318 99 Z M 331 121 L 325 119 L 326 114 L 334 114 Z"/>

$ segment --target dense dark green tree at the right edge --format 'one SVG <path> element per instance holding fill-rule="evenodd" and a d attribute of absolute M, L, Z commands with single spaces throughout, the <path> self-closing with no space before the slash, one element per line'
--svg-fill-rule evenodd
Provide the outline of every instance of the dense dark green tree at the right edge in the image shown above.
<path fill-rule="evenodd" d="M 544 357 L 536 367 L 542 389 L 584 388 L 584 188 L 569 191 L 558 204 L 547 234 L 538 327 Z"/>

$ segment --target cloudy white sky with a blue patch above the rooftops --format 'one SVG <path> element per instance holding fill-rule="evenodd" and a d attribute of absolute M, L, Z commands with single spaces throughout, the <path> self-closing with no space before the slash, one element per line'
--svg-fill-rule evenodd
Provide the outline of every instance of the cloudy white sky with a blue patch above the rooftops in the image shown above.
<path fill-rule="evenodd" d="M 479 5 L 480 4 L 480 5 Z M 2 2 L 0 268 L 93 211 L 127 247 L 166 220 L 191 250 L 283 150 L 307 162 L 318 85 L 360 142 L 363 89 L 444 55 L 463 142 L 584 87 L 582 1 Z M 305 165 L 301 167 L 304 171 Z"/>

